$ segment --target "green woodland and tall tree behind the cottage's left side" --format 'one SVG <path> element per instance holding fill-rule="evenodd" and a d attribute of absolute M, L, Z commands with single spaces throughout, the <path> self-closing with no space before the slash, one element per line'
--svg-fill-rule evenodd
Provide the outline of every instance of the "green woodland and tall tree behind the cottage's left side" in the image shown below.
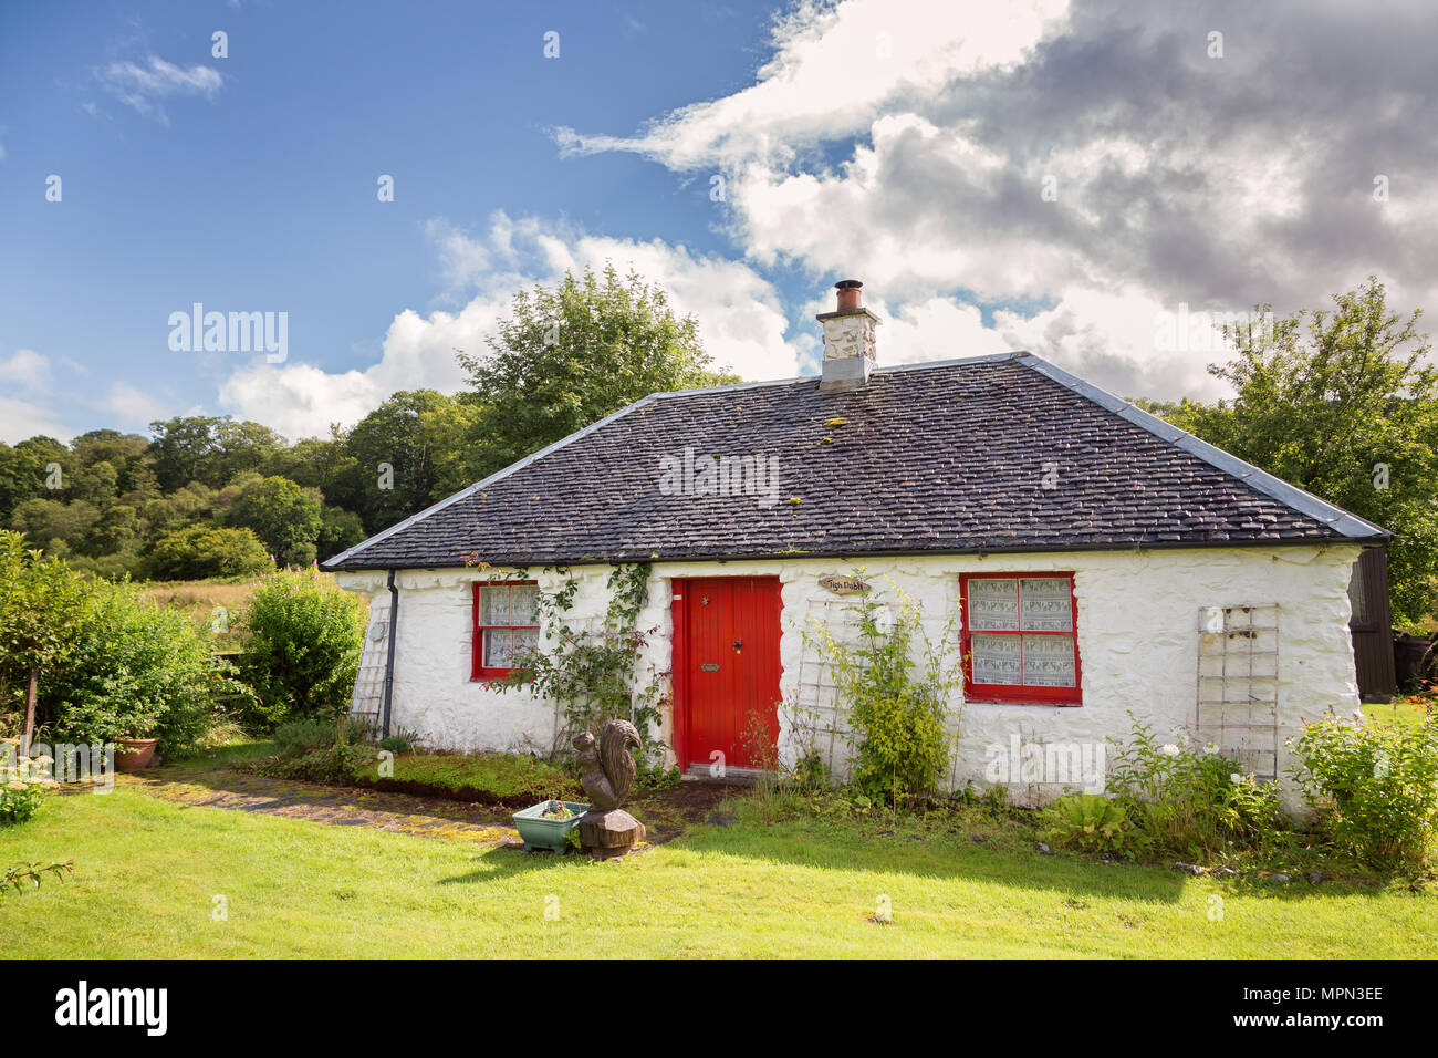
<path fill-rule="evenodd" d="M 459 354 L 470 389 L 401 390 L 328 438 L 184 416 L 0 443 L 0 527 L 108 579 L 308 566 L 649 393 L 738 381 L 709 370 L 693 318 L 613 266 L 521 291 L 486 341 Z"/>

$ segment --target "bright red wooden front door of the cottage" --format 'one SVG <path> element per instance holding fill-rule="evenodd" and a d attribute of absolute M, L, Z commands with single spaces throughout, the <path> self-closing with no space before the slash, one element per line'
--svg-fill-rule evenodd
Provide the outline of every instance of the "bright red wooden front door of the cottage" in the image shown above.
<path fill-rule="evenodd" d="M 696 577 L 674 589 L 680 763 L 772 766 L 765 757 L 779 736 L 779 579 Z"/>

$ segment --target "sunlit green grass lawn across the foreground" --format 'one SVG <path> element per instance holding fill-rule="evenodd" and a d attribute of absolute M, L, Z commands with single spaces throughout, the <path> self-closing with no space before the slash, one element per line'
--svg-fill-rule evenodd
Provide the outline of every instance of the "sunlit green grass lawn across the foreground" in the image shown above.
<path fill-rule="evenodd" d="M 1438 895 L 1398 885 L 1219 882 L 1041 856 L 997 823 L 978 844 L 982 822 L 733 810 L 595 864 L 125 787 L 52 797 L 0 831 L 0 864 L 73 858 L 75 874 L 0 898 L 0 933 L 12 957 L 1438 954 Z M 889 926 L 869 920 L 881 895 Z"/>

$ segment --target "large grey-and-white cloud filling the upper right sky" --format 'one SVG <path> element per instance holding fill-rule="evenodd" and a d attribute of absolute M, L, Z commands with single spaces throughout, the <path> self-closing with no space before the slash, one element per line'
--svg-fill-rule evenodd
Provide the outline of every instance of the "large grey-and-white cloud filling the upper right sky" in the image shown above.
<path fill-rule="evenodd" d="M 1438 105 L 1424 3 L 1380 29 L 1217 7 L 801 3 L 752 85 L 555 138 L 722 173 L 745 259 L 863 279 L 881 360 L 1022 345 L 1125 394 L 1212 397 L 1222 350 L 1160 347 L 1162 314 L 1326 305 L 1369 272 L 1391 304 L 1438 295 L 1438 148 L 1411 134 Z M 1375 202 L 1370 173 L 1403 193 Z M 992 327 L 974 299 L 1004 307 Z"/>

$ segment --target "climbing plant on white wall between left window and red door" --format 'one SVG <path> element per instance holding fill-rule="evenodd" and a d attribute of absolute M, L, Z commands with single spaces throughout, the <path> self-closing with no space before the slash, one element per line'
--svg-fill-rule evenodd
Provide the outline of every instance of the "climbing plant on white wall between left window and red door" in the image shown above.
<path fill-rule="evenodd" d="M 604 618 L 575 622 L 571 616 L 580 582 L 567 566 L 549 571 L 564 577 L 555 592 L 538 593 L 539 626 L 546 639 L 521 651 L 515 668 L 499 681 L 500 689 L 529 687 L 555 702 L 555 741 L 551 753 L 568 756 L 569 740 L 580 731 L 594 731 L 608 720 L 628 720 L 638 728 L 643 747 L 636 754 L 640 780 L 663 774 L 667 746 L 659 738 L 660 675 L 650 665 L 640 672 L 640 658 L 656 629 L 640 629 L 638 618 L 649 603 L 649 563 L 615 566 L 610 570 L 610 602 Z M 523 570 L 519 577 L 526 577 Z"/>

